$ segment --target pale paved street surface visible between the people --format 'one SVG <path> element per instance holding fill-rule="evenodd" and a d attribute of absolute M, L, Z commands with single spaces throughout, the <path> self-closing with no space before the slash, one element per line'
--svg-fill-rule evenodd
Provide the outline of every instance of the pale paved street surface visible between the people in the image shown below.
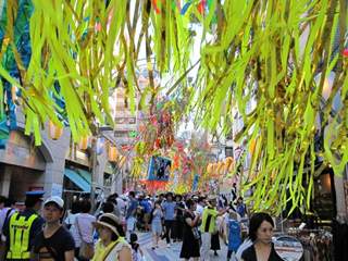
<path fill-rule="evenodd" d="M 139 233 L 138 235 L 138 243 L 145 253 L 147 261 L 174 261 L 174 260 L 181 260 L 179 253 L 182 249 L 182 243 L 174 243 L 171 245 L 171 247 L 166 247 L 165 240 L 162 240 L 160 243 L 160 247 L 156 250 L 152 250 L 152 238 L 150 233 Z M 226 260 L 227 256 L 227 249 L 226 246 L 220 241 L 221 250 L 217 251 L 219 256 L 214 257 L 213 251 L 211 251 L 210 257 L 212 261 L 220 261 L 220 260 Z"/>

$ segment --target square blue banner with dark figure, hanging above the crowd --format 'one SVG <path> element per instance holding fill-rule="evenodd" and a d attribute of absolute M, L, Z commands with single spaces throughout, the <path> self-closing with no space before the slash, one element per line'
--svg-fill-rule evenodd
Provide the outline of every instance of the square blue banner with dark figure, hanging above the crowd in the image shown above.
<path fill-rule="evenodd" d="M 159 156 L 150 159 L 148 181 L 167 182 L 171 174 L 172 160 Z"/>

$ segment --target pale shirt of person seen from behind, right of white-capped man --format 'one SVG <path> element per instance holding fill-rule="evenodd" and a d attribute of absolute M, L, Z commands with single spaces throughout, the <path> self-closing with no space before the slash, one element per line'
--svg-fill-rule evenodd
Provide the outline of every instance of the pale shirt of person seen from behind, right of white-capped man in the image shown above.
<path fill-rule="evenodd" d="M 96 222 L 96 216 L 88 214 L 88 213 L 78 213 L 75 215 L 75 225 L 71 227 L 72 235 L 75 240 L 75 247 L 80 247 L 80 236 L 78 233 L 78 228 L 80 231 L 80 234 L 84 238 L 84 241 L 86 243 L 92 243 L 94 241 L 94 232 L 95 227 L 92 225 L 92 222 Z M 77 228 L 78 223 L 78 228 Z"/>

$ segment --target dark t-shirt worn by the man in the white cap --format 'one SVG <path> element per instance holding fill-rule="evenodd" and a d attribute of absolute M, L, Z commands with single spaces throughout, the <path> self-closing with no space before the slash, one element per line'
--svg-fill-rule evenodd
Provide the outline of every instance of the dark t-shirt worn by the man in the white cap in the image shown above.
<path fill-rule="evenodd" d="M 65 260 L 64 253 L 74 250 L 75 243 L 70 232 L 61 226 L 51 237 L 45 238 L 40 232 L 34 240 L 34 252 L 38 260 Z"/>

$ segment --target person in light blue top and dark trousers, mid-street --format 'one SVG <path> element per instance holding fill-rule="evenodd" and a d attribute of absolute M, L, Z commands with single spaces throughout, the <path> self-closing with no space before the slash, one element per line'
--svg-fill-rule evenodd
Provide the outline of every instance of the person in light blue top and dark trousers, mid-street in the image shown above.
<path fill-rule="evenodd" d="M 176 212 L 175 208 L 176 208 L 176 202 L 173 201 L 173 195 L 169 192 L 166 195 L 166 201 L 162 203 L 162 209 L 164 211 L 164 227 L 165 227 L 164 237 L 166 239 L 167 247 L 171 246 L 171 237 L 173 233 L 175 212 Z"/>

